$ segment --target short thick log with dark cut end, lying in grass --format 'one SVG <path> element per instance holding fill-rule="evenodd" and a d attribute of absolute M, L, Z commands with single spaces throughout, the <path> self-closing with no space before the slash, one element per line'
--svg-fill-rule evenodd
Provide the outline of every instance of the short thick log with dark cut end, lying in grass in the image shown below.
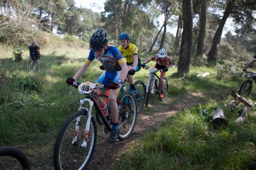
<path fill-rule="evenodd" d="M 228 125 L 228 121 L 224 116 L 224 111 L 222 109 L 216 109 L 214 114 L 212 114 L 212 126 L 214 128 L 222 128 Z"/>

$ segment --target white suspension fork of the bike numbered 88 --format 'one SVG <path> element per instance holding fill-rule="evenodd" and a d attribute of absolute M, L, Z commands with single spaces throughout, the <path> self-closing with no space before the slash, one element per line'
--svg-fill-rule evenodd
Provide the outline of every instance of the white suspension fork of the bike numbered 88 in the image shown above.
<path fill-rule="evenodd" d="M 90 99 L 81 99 L 81 103 L 80 103 L 80 108 L 78 110 L 87 110 L 87 108 L 83 108 L 82 107 L 82 104 L 87 101 L 89 102 L 90 104 L 90 108 L 89 108 L 89 111 L 88 111 L 88 117 L 87 117 L 87 121 L 86 121 L 86 129 L 84 130 L 84 137 L 83 137 L 83 142 L 82 144 L 80 145 L 81 147 L 85 148 L 87 146 L 87 142 L 88 142 L 88 138 L 89 138 L 89 129 L 90 129 L 90 122 L 91 122 L 91 118 L 92 118 L 92 109 L 93 109 L 93 101 L 90 100 Z M 76 118 L 76 128 L 75 128 L 75 134 L 74 134 L 74 138 L 73 138 L 73 141 L 72 141 L 72 144 L 74 146 L 76 146 L 77 144 L 77 135 L 78 135 L 78 131 L 79 131 L 79 128 L 80 128 L 80 125 L 82 124 L 81 123 L 81 117 L 77 117 Z"/>

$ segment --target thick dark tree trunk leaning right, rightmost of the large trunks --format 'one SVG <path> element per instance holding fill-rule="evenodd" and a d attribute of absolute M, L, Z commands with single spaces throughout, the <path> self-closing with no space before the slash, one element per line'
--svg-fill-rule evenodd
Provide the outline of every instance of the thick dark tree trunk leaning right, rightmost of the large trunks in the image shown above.
<path fill-rule="evenodd" d="M 216 60 L 215 56 L 217 54 L 217 45 L 221 41 L 221 34 L 222 34 L 224 24 L 227 21 L 231 11 L 233 10 L 233 1 L 235 1 L 235 0 L 229 0 L 229 2 L 227 4 L 227 7 L 225 8 L 223 17 L 221 19 L 221 22 L 220 22 L 220 24 L 218 26 L 218 29 L 217 29 L 217 31 L 214 35 L 214 39 L 212 40 L 211 49 L 210 49 L 210 51 L 208 53 L 208 56 L 207 56 L 209 61 L 210 60 Z"/>

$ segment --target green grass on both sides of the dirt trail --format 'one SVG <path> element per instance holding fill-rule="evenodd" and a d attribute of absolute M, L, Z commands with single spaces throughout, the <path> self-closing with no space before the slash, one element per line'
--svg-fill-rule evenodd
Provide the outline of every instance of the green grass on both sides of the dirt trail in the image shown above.
<path fill-rule="evenodd" d="M 81 48 L 41 49 L 39 73 L 28 72 L 28 51 L 23 53 L 21 62 L 13 61 L 8 50 L 0 57 L 0 146 L 14 146 L 25 152 L 33 169 L 52 168 L 52 148 L 59 128 L 78 108 L 77 90 L 67 86 L 65 80 L 74 76 L 88 53 L 88 49 Z M 142 62 L 153 55 L 142 53 Z M 154 64 L 155 61 L 151 61 L 148 65 Z M 78 81 L 96 81 L 102 73 L 99 66 L 99 61 L 93 61 Z M 156 105 L 180 104 L 182 98 L 210 102 L 168 118 L 160 127 L 139 138 L 110 169 L 255 168 L 255 115 L 251 114 L 255 109 L 238 125 L 232 121 L 240 115 L 241 108 L 225 108 L 231 100 L 230 92 L 238 91 L 245 78 L 218 80 L 214 63 L 191 66 L 190 70 L 185 78 L 179 79 L 183 75 L 176 73 L 177 67 L 170 68 L 166 74 L 167 100 L 160 102 L 151 95 L 149 107 L 143 108 L 141 114 L 156 114 Z M 205 72 L 211 74 L 197 76 Z M 148 70 L 142 68 L 135 80 L 146 84 L 147 77 Z M 211 128 L 209 116 L 217 108 L 227 112 L 229 125 L 225 129 Z"/>

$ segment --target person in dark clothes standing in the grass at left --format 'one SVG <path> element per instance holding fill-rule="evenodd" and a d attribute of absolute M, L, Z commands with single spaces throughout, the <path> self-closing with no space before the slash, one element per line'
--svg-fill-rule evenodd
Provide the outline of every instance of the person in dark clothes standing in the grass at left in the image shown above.
<path fill-rule="evenodd" d="M 40 47 L 36 45 L 35 41 L 31 41 L 31 46 L 28 47 L 29 56 L 31 58 L 31 65 L 29 67 L 29 71 L 32 71 L 34 66 L 36 71 L 40 71 L 39 68 L 39 59 L 40 59 Z"/>

